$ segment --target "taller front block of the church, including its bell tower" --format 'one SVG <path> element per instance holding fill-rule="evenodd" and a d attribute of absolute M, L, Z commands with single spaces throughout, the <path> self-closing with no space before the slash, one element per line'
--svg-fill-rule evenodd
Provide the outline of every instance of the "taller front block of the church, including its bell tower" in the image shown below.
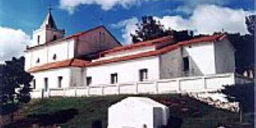
<path fill-rule="evenodd" d="M 34 76 L 35 89 L 46 90 L 82 86 L 83 66 L 88 61 L 78 58 L 90 59 L 99 51 L 121 45 L 104 26 L 64 37 L 64 30 L 57 29 L 51 12 L 33 32 L 33 41 L 35 45 L 25 50 L 25 70 Z"/>

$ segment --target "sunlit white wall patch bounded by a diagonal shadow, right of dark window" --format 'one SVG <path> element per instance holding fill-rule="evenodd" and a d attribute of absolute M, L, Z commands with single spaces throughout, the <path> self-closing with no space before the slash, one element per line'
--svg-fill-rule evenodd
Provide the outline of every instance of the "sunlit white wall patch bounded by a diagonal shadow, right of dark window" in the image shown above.
<path fill-rule="evenodd" d="M 189 46 L 183 48 L 183 57 L 189 56 L 189 66 L 193 63 L 203 75 L 216 73 L 213 42 L 193 44 L 191 48 Z"/>

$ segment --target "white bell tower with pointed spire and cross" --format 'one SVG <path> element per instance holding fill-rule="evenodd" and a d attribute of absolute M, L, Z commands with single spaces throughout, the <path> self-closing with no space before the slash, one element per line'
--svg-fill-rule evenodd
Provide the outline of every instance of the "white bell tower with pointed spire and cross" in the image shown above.
<path fill-rule="evenodd" d="M 52 17 L 52 8 L 49 6 L 47 16 L 40 28 L 33 31 L 33 42 L 35 45 L 45 44 L 64 38 L 65 30 L 58 29 Z"/>

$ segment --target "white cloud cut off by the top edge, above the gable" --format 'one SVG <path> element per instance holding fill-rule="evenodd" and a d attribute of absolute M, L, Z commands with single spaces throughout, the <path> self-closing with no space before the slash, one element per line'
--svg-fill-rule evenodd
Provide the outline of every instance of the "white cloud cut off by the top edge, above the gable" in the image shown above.
<path fill-rule="evenodd" d="M 148 0 L 60 0 L 60 8 L 67 10 L 70 14 L 73 14 L 76 7 L 79 5 L 96 4 L 101 6 L 103 10 L 110 10 L 116 5 L 120 5 L 124 8 L 129 8 L 133 5 L 140 5 L 142 1 Z"/>

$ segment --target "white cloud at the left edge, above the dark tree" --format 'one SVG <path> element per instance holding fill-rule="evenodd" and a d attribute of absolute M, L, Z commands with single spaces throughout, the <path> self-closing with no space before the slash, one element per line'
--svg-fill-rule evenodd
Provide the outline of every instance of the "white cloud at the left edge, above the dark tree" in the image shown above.
<path fill-rule="evenodd" d="M 12 29 L 0 26 L 0 62 L 20 57 L 26 45 L 30 43 L 30 37 L 20 29 Z"/>

